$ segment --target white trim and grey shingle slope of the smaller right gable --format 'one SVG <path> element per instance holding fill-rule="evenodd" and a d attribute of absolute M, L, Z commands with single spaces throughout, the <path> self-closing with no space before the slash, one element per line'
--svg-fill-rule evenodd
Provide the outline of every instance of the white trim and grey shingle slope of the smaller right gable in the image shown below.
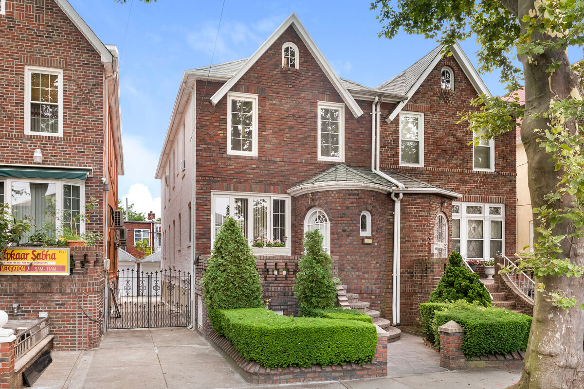
<path fill-rule="evenodd" d="M 416 90 L 422 85 L 422 82 L 427 78 L 427 76 L 432 72 L 434 67 L 438 64 L 440 59 L 443 57 L 444 46 L 438 46 L 426 54 L 424 57 L 420 58 L 412 66 L 405 69 L 405 71 L 399 73 L 394 78 L 387 80 L 381 85 L 377 86 L 377 90 L 384 90 L 385 92 L 391 93 L 404 93 L 406 99 L 402 100 L 393 111 L 385 118 L 385 121 L 391 122 L 399 114 L 399 112 L 404 108 L 405 104 L 408 103 L 409 99 L 412 98 Z M 463 69 L 464 74 L 470 80 L 472 86 L 478 93 L 484 93 L 487 96 L 491 96 L 491 92 L 486 87 L 485 83 L 479 76 L 477 69 L 472 66 L 470 59 L 464 54 L 463 48 L 460 47 L 458 43 L 453 44 L 450 47 L 450 51 L 454 59 Z"/>

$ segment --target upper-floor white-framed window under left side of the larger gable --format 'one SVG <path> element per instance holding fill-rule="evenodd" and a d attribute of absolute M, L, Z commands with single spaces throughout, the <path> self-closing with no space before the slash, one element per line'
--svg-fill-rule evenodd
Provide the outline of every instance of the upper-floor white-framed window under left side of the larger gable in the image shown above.
<path fill-rule="evenodd" d="M 258 155 L 258 95 L 227 93 L 227 153 Z"/>

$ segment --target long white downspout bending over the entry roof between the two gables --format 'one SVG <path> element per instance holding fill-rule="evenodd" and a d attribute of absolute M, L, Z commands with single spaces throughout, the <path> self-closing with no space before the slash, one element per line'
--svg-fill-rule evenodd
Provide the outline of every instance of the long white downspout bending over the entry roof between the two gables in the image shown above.
<path fill-rule="evenodd" d="M 377 100 L 377 97 L 376 97 Z M 385 178 L 386 180 L 394 183 L 398 190 L 404 190 L 405 185 L 395 180 L 395 178 L 388 176 L 380 170 L 380 148 L 381 148 L 381 103 L 383 102 L 383 97 L 373 104 L 373 117 L 374 119 L 374 129 L 372 129 L 373 135 L 373 145 L 372 155 L 371 155 L 371 170 L 377 173 L 379 176 Z M 392 324 L 399 323 L 399 300 L 400 300 L 400 277 L 401 272 L 401 199 L 404 197 L 402 193 L 395 192 L 391 193 L 391 199 L 395 202 L 394 206 L 394 252 L 393 252 L 393 274 L 392 274 L 392 304 L 391 304 L 391 314 L 392 314 Z"/>

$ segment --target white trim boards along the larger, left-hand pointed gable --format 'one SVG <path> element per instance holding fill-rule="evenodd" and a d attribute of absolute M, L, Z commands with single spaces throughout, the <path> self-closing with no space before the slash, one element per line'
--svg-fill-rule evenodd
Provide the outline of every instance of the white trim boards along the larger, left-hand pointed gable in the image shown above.
<path fill-rule="evenodd" d="M 304 28 L 303 24 L 300 22 L 300 19 L 298 19 L 298 16 L 296 16 L 296 13 L 294 12 L 288 16 L 288 19 L 286 19 L 284 23 L 282 23 L 280 27 L 278 27 L 276 31 L 274 31 L 274 33 L 269 38 L 267 38 L 267 40 L 258 48 L 258 50 L 254 52 L 253 55 L 247 59 L 247 61 L 245 61 L 244 65 L 239 68 L 235 75 L 227 80 L 227 82 L 225 82 L 223 86 L 221 86 L 219 90 L 217 90 L 217 92 L 211 96 L 211 103 L 213 103 L 213 105 L 217 104 L 219 100 L 221 100 L 225 94 L 229 92 L 235 83 L 237 83 L 238 80 L 253 66 L 253 64 L 255 64 L 255 62 L 258 61 L 260 57 L 262 57 L 266 50 L 270 48 L 272 44 L 274 44 L 277 38 L 279 38 L 281 34 L 283 34 L 284 31 L 286 31 L 286 29 L 288 29 L 290 26 L 296 30 L 296 33 L 304 42 L 308 48 L 308 51 L 310 51 L 312 57 L 314 57 L 318 65 L 321 66 L 322 71 L 335 87 L 336 91 L 340 94 L 343 101 L 345 101 L 345 104 L 347 104 L 347 107 L 353 113 L 354 117 L 361 116 L 363 111 L 359 107 L 359 104 L 357 104 L 357 101 L 355 101 L 353 96 L 351 96 L 345 85 L 343 85 L 339 77 L 336 75 L 335 71 L 333 71 L 331 65 L 329 65 L 329 63 L 326 61 L 317 44 L 314 43 L 310 37 L 310 34 L 308 34 L 308 31 Z"/>

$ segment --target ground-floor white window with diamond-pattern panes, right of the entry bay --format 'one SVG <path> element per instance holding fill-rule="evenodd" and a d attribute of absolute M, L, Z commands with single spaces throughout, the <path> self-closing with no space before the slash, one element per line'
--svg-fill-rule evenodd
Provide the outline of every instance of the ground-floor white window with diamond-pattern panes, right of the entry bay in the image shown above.
<path fill-rule="evenodd" d="M 505 253 L 505 205 L 453 202 L 452 246 L 465 258 Z"/>

